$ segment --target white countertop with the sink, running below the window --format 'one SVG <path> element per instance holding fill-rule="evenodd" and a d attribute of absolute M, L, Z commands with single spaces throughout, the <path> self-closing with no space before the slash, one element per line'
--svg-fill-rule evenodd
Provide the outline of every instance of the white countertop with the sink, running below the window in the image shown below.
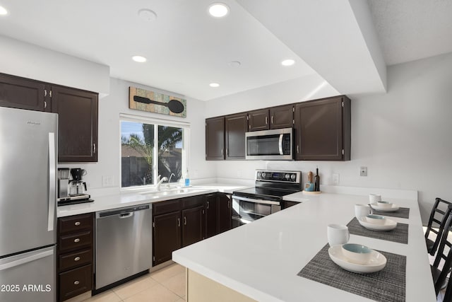
<path fill-rule="evenodd" d="M 190 190 L 195 190 L 194 192 L 167 194 L 164 196 L 159 196 L 159 194 L 146 195 L 141 194 L 141 192 L 124 192 L 101 197 L 92 196 L 91 198 L 94 199 L 94 202 L 57 207 L 57 217 L 85 214 L 95 211 L 105 211 L 107 209 L 117 209 L 121 207 L 131 207 L 138 204 L 161 202 L 162 200 L 178 199 L 182 197 L 208 194 L 213 192 L 232 194 L 232 191 L 241 190 L 244 188 L 246 187 L 243 185 L 212 183 L 207 185 L 194 185 L 189 187 Z M 184 189 L 184 187 L 182 187 L 181 189 Z"/>

